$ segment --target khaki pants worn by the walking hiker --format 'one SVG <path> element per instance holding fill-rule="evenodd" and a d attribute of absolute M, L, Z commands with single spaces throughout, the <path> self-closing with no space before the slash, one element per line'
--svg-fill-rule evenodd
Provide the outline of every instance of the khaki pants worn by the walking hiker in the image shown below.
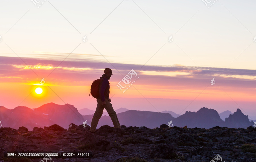
<path fill-rule="evenodd" d="M 109 102 L 108 99 L 105 98 L 105 101 L 106 101 L 106 105 L 102 105 L 102 101 L 101 99 L 97 99 L 97 108 L 96 108 L 96 111 L 92 117 L 92 123 L 91 123 L 91 128 L 90 128 L 90 131 L 91 132 L 95 132 L 96 130 L 96 127 L 98 125 L 98 122 L 99 122 L 99 119 L 100 117 L 102 116 L 103 114 L 103 110 L 104 108 L 107 110 L 112 122 L 113 122 L 113 125 L 115 128 L 121 128 L 121 125 L 117 119 L 117 116 L 116 116 L 116 112 L 115 110 L 113 109 L 112 107 L 112 104 Z"/>

